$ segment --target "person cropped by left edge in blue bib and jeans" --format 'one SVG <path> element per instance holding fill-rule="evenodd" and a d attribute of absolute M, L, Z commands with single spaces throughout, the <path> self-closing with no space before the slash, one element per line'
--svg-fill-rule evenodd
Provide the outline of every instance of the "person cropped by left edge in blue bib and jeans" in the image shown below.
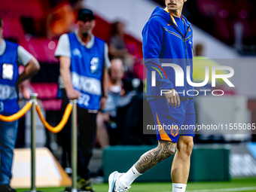
<path fill-rule="evenodd" d="M 32 78 L 40 69 L 38 61 L 19 44 L 2 37 L 3 22 L 0 18 L 0 114 L 10 116 L 19 111 L 17 87 Z M 19 75 L 18 67 L 25 66 Z M 0 120 L 0 191 L 15 192 L 10 187 L 11 166 L 17 139 L 19 120 Z"/>

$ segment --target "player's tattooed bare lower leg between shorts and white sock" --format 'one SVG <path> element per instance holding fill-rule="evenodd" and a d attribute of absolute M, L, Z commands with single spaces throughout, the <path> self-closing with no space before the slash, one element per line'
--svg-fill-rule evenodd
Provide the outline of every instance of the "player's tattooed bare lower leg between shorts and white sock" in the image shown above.
<path fill-rule="evenodd" d="M 136 169 L 139 173 L 144 173 L 151 169 L 157 163 L 166 160 L 168 157 L 171 157 L 175 153 L 177 143 L 168 142 L 168 141 L 158 141 L 157 148 L 148 151 L 139 158 L 135 164 Z"/>

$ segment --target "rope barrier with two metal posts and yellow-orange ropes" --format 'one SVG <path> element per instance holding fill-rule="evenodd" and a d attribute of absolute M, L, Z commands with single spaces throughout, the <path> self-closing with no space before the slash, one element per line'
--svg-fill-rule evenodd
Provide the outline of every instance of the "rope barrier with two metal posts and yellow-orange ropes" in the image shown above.
<path fill-rule="evenodd" d="M 39 192 L 35 187 L 35 133 L 36 133 L 36 112 L 38 112 L 38 116 L 40 117 L 42 123 L 50 130 L 52 133 L 59 133 L 66 123 L 69 120 L 69 116 L 72 112 L 72 192 L 77 192 L 77 178 L 78 178 L 78 115 L 77 115 L 77 100 L 70 100 L 69 104 L 66 107 L 65 113 L 63 114 L 62 120 L 55 127 L 50 126 L 49 123 L 44 119 L 41 114 L 41 110 L 38 106 L 37 100 L 38 94 L 32 93 L 30 101 L 16 114 L 11 116 L 3 116 L 0 114 L 0 120 L 11 122 L 14 120 L 18 120 L 20 117 L 23 117 L 29 108 L 31 108 L 31 189 L 30 192 Z"/>

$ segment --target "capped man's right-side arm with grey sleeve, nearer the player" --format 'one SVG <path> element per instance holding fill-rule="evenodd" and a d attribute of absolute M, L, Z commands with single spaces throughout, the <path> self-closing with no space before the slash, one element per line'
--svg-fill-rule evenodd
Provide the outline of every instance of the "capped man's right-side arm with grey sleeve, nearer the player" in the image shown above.
<path fill-rule="evenodd" d="M 104 68 L 102 74 L 102 99 L 100 100 L 100 108 L 105 108 L 108 99 L 108 69 L 111 64 L 108 58 L 108 44 L 104 48 Z"/>

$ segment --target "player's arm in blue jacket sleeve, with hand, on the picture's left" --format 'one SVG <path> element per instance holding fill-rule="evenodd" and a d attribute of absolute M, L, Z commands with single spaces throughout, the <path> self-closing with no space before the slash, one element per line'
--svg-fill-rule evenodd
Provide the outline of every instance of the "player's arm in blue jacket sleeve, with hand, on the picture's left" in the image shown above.
<path fill-rule="evenodd" d="M 159 18 L 159 17 L 158 17 Z M 160 52 L 163 41 L 166 41 L 163 36 L 163 29 L 157 17 L 152 17 L 146 23 L 143 31 L 143 58 L 148 72 L 157 71 L 156 82 L 160 84 L 160 90 L 172 90 L 172 93 L 166 93 L 168 105 L 172 104 L 174 108 L 180 105 L 178 93 L 173 89 L 173 84 L 167 78 L 160 62 Z M 149 85 L 150 86 L 150 85 Z"/>

